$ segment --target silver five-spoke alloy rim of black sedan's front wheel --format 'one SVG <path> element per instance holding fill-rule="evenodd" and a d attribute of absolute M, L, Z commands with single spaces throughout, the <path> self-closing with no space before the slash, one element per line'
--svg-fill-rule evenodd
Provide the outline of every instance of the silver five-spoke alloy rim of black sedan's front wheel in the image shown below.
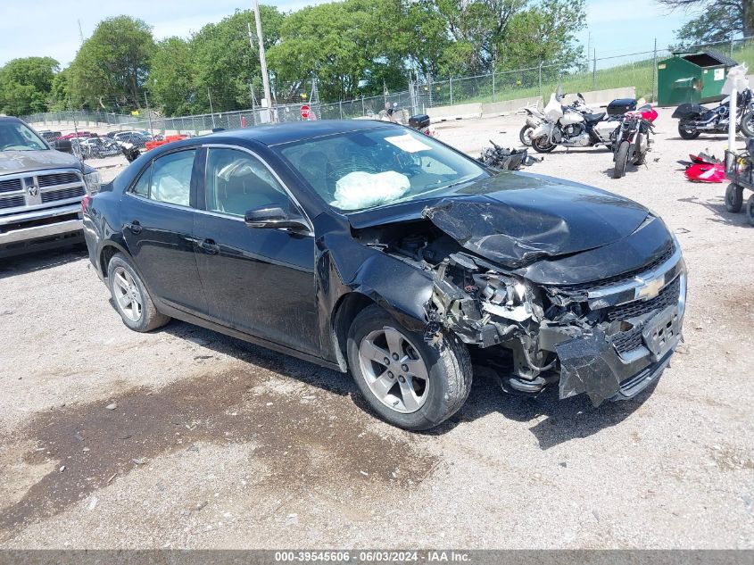
<path fill-rule="evenodd" d="M 385 326 L 365 336 L 359 360 L 369 390 L 388 408 L 409 414 L 427 402 L 427 365 L 397 329 Z"/>

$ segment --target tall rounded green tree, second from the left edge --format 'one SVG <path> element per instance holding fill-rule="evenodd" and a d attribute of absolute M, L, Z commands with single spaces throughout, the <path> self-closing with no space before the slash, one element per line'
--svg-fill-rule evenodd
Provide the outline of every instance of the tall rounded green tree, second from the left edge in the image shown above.
<path fill-rule="evenodd" d="M 75 104 L 103 110 L 141 107 L 153 51 L 152 30 L 144 21 L 129 16 L 101 21 L 70 65 Z"/>

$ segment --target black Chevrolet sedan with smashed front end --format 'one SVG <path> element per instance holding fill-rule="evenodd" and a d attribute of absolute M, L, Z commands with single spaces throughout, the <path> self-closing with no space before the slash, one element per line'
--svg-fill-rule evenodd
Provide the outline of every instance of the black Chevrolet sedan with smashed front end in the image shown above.
<path fill-rule="evenodd" d="M 475 370 L 510 392 L 631 398 L 681 338 L 684 261 L 657 216 L 392 123 L 163 145 L 84 207 L 128 328 L 178 318 L 350 370 L 402 428 L 458 411 Z"/>

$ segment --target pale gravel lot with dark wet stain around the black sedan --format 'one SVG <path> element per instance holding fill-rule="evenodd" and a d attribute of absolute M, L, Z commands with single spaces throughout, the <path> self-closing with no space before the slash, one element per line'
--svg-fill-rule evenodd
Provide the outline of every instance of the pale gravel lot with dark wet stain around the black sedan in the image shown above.
<path fill-rule="evenodd" d="M 348 376 L 184 323 L 129 331 L 80 251 L 0 262 L 0 545 L 754 548 L 754 228 L 676 163 L 725 139 L 683 141 L 669 113 L 625 179 L 605 150 L 530 169 L 628 195 L 683 245 L 686 342 L 635 402 L 479 378 L 410 434 Z M 476 155 L 522 121 L 439 130 Z"/>

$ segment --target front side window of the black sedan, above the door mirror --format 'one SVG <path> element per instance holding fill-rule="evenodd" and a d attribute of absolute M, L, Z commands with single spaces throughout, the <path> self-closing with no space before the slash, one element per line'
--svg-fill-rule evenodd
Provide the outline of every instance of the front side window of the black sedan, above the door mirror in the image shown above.
<path fill-rule="evenodd" d="M 254 208 L 291 207 L 286 191 L 269 169 L 244 151 L 211 147 L 206 174 L 206 204 L 211 212 L 243 218 L 246 211 Z"/>

